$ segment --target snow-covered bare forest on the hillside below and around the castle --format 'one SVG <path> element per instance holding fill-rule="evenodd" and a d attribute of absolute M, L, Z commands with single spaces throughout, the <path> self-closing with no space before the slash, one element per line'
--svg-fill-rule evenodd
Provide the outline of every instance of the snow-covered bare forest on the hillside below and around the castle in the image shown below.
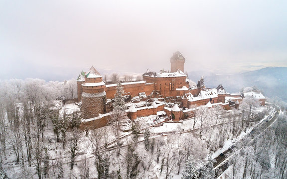
<path fill-rule="evenodd" d="M 155 116 L 127 119 L 118 83 L 109 124 L 82 131 L 81 102 L 68 100 L 77 98 L 75 80 L 0 82 L 1 179 L 287 178 L 286 103 L 278 99 L 262 107 L 246 97 L 228 111 L 199 106 L 195 117 L 161 126 L 171 128 L 163 135 L 145 123 Z"/>

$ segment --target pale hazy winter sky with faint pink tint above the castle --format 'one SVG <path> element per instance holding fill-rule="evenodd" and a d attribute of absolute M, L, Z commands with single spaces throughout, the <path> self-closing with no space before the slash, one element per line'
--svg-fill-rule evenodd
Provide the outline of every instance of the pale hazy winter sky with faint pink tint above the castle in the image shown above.
<path fill-rule="evenodd" d="M 287 0 L 0 0 L 0 79 L 287 66 Z"/>

